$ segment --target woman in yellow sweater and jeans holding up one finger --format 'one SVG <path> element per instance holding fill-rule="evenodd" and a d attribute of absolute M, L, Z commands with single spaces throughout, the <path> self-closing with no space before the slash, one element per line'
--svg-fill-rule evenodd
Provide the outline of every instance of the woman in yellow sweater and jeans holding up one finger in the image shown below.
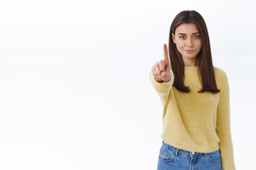
<path fill-rule="evenodd" d="M 171 23 L 169 57 L 150 73 L 163 105 L 157 169 L 235 170 L 228 77 L 213 67 L 208 30 L 196 11 Z"/>

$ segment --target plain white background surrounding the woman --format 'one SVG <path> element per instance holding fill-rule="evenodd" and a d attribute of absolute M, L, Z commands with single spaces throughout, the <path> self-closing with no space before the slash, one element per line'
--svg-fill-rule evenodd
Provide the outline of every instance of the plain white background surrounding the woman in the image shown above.
<path fill-rule="evenodd" d="M 149 82 L 177 13 L 208 26 L 228 74 L 237 169 L 254 169 L 255 7 L 243 1 L 0 1 L 0 169 L 156 169 Z"/>

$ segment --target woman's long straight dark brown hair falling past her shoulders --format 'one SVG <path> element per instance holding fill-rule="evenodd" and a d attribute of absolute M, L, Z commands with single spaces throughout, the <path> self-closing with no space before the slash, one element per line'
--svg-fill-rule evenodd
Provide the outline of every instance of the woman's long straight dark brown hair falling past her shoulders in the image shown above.
<path fill-rule="evenodd" d="M 198 93 L 203 93 L 204 91 L 210 91 L 213 94 L 218 94 L 220 91 L 217 89 L 214 71 L 212 55 L 210 52 L 210 40 L 208 35 L 208 30 L 203 17 L 197 11 L 181 11 L 174 18 L 171 23 L 170 35 L 169 35 L 169 56 L 171 61 L 171 69 L 174 72 L 174 86 L 179 91 L 188 93 L 190 89 L 188 86 L 184 85 L 184 64 L 182 60 L 181 53 L 178 52 L 176 44 L 172 39 L 171 33 L 174 33 L 176 28 L 181 25 L 181 23 L 194 23 L 199 31 L 202 41 L 202 47 L 198 55 L 196 56 L 196 66 L 198 66 L 198 72 L 201 76 L 202 89 Z"/>

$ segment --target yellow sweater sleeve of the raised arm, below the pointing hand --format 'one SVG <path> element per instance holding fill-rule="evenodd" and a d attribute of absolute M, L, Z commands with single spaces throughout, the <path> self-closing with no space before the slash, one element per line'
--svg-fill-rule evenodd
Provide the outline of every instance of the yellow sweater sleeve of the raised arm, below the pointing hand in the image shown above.
<path fill-rule="evenodd" d="M 174 84 L 174 72 L 170 69 L 171 72 L 171 79 L 167 82 L 159 83 L 154 79 L 154 75 L 152 72 L 149 74 L 149 79 L 151 81 L 152 86 L 154 87 L 155 91 L 159 94 L 162 104 L 166 102 L 169 98 L 169 92 L 171 87 Z"/>

